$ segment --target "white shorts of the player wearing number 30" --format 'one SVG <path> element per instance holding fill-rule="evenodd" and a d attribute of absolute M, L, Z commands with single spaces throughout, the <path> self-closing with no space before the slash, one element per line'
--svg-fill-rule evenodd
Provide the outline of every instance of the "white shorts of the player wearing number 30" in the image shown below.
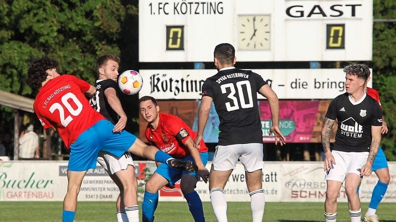
<path fill-rule="evenodd" d="M 234 170 L 239 158 L 245 171 L 250 173 L 263 169 L 263 157 L 262 143 L 216 146 L 212 165 L 216 171 Z"/>

